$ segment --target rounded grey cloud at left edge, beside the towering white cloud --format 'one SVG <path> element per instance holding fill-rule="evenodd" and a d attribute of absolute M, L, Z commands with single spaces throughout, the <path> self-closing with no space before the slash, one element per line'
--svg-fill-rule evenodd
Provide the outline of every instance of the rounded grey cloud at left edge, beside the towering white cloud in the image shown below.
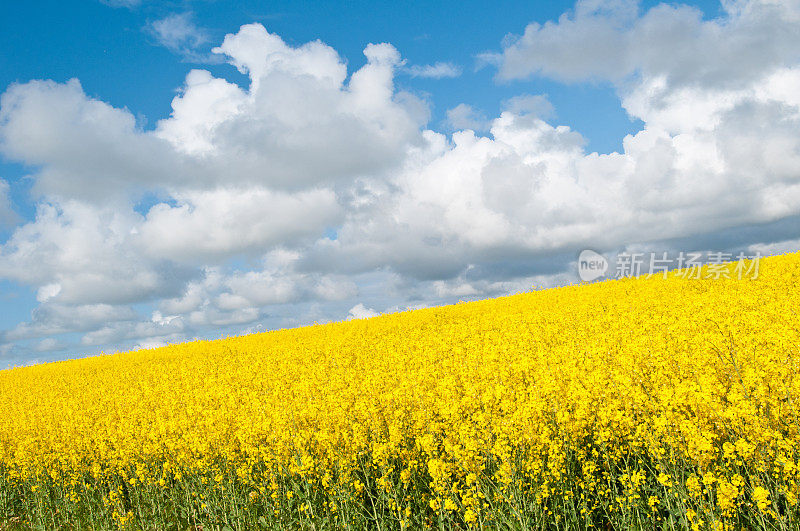
<path fill-rule="evenodd" d="M 0 97 L 0 152 L 40 168 L 34 192 L 107 202 L 188 178 L 170 145 L 78 80 L 11 85 Z"/>

